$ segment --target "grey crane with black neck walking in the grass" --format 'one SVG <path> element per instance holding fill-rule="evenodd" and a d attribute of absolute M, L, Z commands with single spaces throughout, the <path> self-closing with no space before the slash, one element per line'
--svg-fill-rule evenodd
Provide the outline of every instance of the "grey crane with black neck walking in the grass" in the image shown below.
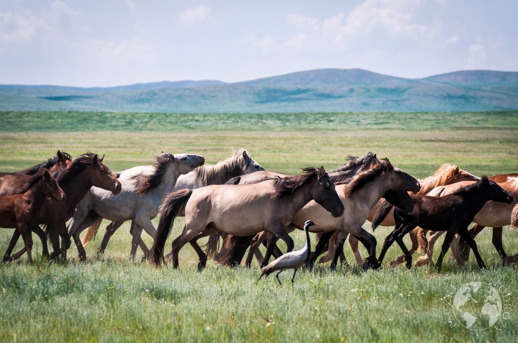
<path fill-rule="evenodd" d="M 292 251 L 292 252 L 286 252 L 284 255 L 280 256 L 279 258 L 275 259 L 274 261 L 271 261 L 268 263 L 266 267 L 263 269 L 263 274 L 259 277 L 259 280 L 263 277 L 263 275 L 266 275 L 265 278 L 268 277 L 273 272 L 278 272 L 275 276 L 277 277 L 277 281 L 279 281 L 279 284 L 282 286 L 281 280 L 279 279 L 279 274 L 286 269 L 294 269 L 293 277 L 292 277 L 292 285 L 293 280 L 295 279 L 295 274 L 297 273 L 297 270 L 306 264 L 309 259 L 310 254 L 310 246 L 311 243 L 309 242 L 309 232 L 308 229 L 312 225 L 318 225 L 312 222 L 311 220 L 307 220 L 304 223 L 304 231 L 306 232 L 306 245 L 304 248 Z"/>

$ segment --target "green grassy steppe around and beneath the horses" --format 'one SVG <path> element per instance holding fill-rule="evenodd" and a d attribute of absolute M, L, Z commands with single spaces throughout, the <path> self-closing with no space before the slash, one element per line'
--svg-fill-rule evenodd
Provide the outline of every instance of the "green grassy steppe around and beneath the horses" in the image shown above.
<path fill-rule="evenodd" d="M 347 155 L 368 151 L 389 157 L 416 177 L 444 162 L 478 175 L 518 171 L 518 112 L 0 112 L 0 128 L 2 171 L 34 165 L 57 149 L 73 156 L 85 150 L 106 154 L 106 165 L 116 171 L 149 164 L 161 151 L 199 153 L 215 163 L 239 147 L 267 170 L 289 173 L 306 166 L 332 169 Z M 178 235 L 182 226 L 180 219 L 171 235 Z M 130 261 L 128 231 L 126 223 L 105 255 L 95 257 L 101 230 L 87 246 L 86 263 L 77 262 L 74 247 L 66 265 L 38 261 L 28 266 L 25 258 L 0 263 L 0 340 L 506 342 L 518 335 L 516 270 L 501 266 L 491 230 L 477 237 L 486 271 L 478 270 L 473 258 L 464 267 L 448 260 L 440 274 L 433 267 L 331 272 L 328 265 L 319 265 L 297 274 L 293 287 L 289 272 L 281 274 L 282 287 L 274 278 L 256 282 L 256 264 L 250 270 L 231 270 L 209 261 L 206 270 L 197 272 L 190 246 L 180 253 L 180 271 Z M 377 230 L 378 242 L 389 232 Z M 11 233 L 0 232 L 3 249 Z M 292 236 L 297 249 L 303 246 L 303 234 Z M 503 238 L 508 253 L 518 252 L 517 230 L 506 228 Z M 151 245 L 150 237 L 145 241 Z M 40 251 L 38 242 L 35 246 Z M 398 255 L 394 246 L 385 261 Z M 346 257 L 354 261 L 350 248 Z M 509 319 L 483 331 L 454 325 L 454 318 L 448 322 L 444 301 L 472 281 L 506 287 Z"/>

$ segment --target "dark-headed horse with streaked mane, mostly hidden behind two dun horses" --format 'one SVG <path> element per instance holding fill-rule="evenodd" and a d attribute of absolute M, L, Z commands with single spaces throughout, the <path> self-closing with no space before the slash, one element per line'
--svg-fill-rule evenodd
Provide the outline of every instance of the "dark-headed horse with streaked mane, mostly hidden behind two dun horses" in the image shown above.
<path fill-rule="evenodd" d="M 348 156 L 347 163 L 339 167 L 338 169 L 329 171 L 329 178 L 331 181 L 333 181 L 335 184 L 337 183 L 348 183 L 350 182 L 353 177 L 356 175 L 356 173 L 368 170 L 371 168 L 371 165 L 373 162 L 378 163 L 379 160 L 376 158 L 376 155 L 372 153 L 368 153 L 365 156 L 361 157 L 355 157 L 355 156 Z M 291 175 L 286 174 L 280 174 L 280 173 L 274 173 L 274 172 L 260 172 L 260 173 L 254 173 L 242 177 L 235 178 L 229 183 L 232 182 L 232 184 L 253 184 L 257 182 L 261 182 L 264 180 L 267 180 L 268 178 L 274 178 L 274 177 L 288 177 Z M 408 208 L 408 211 L 411 210 L 413 203 L 406 191 L 394 191 L 389 190 L 385 192 L 383 195 L 387 200 L 391 201 L 396 206 L 402 206 L 404 208 Z M 410 202 L 408 202 L 410 200 Z M 332 234 L 332 232 L 329 233 L 329 235 Z M 270 236 L 271 237 L 271 236 Z M 229 252 L 226 247 L 223 247 L 223 249 L 218 252 L 217 256 L 215 257 L 215 260 L 221 264 L 229 265 L 229 266 L 237 266 L 240 264 L 241 259 L 246 252 L 249 245 L 253 244 L 254 246 L 258 246 L 261 243 L 264 244 L 268 238 L 268 232 L 263 231 L 261 233 L 258 233 L 255 237 L 232 237 L 228 236 L 227 242 L 228 247 L 233 247 L 233 252 Z M 328 236 L 325 237 L 325 234 L 321 237 L 321 241 L 319 242 L 326 242 L 328 240 Z M 210 242 L 210 241 L 209 241 Z M 271 247 L 271 246 L 270 246 Z M 273 246 L 272 253 L 276 255 L 276 252 L 278 256 L 281 255 L 280 250 L 278 250 L 277 246 Z M 258 248 L 251 248 L 249 250 L 248 257 L 246 259 L 245 266 L 250 266 L 252 262 L 253 255 L 255 255 L 260 261 L 262 265 L 265 265 L 268 263 L 269 259 L 269 253 L 267 253 L 267 259 L 263 258 L 261 255 L 261 252 Z M 277 257 L 278 257 L 277 256 Z M 224 257 L 224 258 L 223 258 Z"/>

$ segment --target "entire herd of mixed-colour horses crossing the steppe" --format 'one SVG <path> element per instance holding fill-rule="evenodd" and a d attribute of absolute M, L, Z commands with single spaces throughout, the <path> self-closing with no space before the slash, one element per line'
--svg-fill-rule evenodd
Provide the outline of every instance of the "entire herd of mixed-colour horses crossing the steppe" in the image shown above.
<path fill-rule="evenodd" d="M 91 152 L 73 159 L 58 151 L 37 166 L 0 173 L 0 227 L 16 229 L 4 261 L 27 253 L 27 261 L 33 263 L 32 232 L 41 240 L 42 256 L 66 261 L 73 238 L 79 260 L 84 261 L 84 246 L 95 237 L 103 219 L 110 223 L 97 253 L 103 253 L 113 233 L 131 221 L 131 257 L 140 247 L 144 258 L 151 258 L 155 266 L 170 262 L 178 267 L 179 251 L 188 243 L 198 255 L 199 270 L 208 258 L 238 266 L 247 250 L 244 265 L 250 266 L 255 257 L 265 266 L 272 256 L 282 255 L 279 238 L 286 252 L 293 250 L 289 233 L 302 229 L 308 220 L 317 224 L 309 231 L 318 237 L 315 251 L 307 254 L 309 267 L 325 251 L 327 255 L 319 262 L 332 261 L 332 269 L 339 259 L 347 264 L 343 254 L 347 239 L 360 267 L 380 267 L 394 241 L 404 255 L 390 265 L 405 262 L 410 268 L 417 251 L 426 255 L 416 265 L 431 263 L 434 243 L 445 232 L 436 263 L 439 270 L 450 248 L 459 264 L 473 250 L 479 267 L 484 268 L 474 241 L 484 227 L 493 228 L 493 244 L 503 264 L 518 260 L 518 254 L 507 256 L 502 244 L 502 227 L 518 225 L 516 173 L 478 177 L 457 166 L 442 165 L 418 181 L 372 153 L 349 156 L 344 165 L 330 171 L 308 167 L 300 175 L 265 171 L 244 149 L 216 165 L 206 164 L 200 155 L 162 153 L 151 166 L 116 173 L 103 159 Z M 155 230 L 152 219 L 159 214 Z M 185 217 L 184 229 L 164 255 L 179 216 Z M 363 229 L 366 220 L 373 230 L 379 225 L 394 227 L 378 256 L 375 236 Z M 476 225 L 468 230 L 471 222 Z M 154 238 L 151 249 L 143 242 L 142 231 Z M 402 241 L 407 233 L 410 250 Z M 20 236 L 24 247 L 12 253 Z M 198 240 L 207 236 L 204 249 Z M 358 242 L 368 251 L 365 259 Z M 266 246 L 264 256 L 261 245 Z"/>

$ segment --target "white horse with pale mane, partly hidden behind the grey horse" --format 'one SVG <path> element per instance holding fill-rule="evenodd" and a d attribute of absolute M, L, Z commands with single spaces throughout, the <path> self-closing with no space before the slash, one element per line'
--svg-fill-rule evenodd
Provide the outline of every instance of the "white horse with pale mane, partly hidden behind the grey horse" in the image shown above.
<path fill-rule="evenodd" d="M 141 166 L 134 167 L 123 172 L 120 172 L 120 180 L 130 180 L 136 174 L 152 173 L 152 166 Z M 205 163 L 203 166 L 199 166 L 187 174 L 181 174 L 178 176 L 174 190 L 180 189 L 194 189 L 199 187 L 205 187 L 208 185 L 221 185 L 227 182 L 232 177 L 239 175 L 246 175 L 255 171 L 264 171 L 259 163 L 253 160 L 252 156 L 246 149 L 235 150 L 231 157 L 218 162 L 215 165 Z M 122 225 L 123 221 L 110 222 L 106 227 L 106 232 L 103 237 L 103 241 L 97 249 L 97 253 L 104 253 L 106 246 L 113 235 L 113 233 Z M 135 221 L 132 220 L 130 233 L 133 235 Z M 83 238 L 83 244 L 87 244 L 93 236 L 95 236 L 95 226 L 91 226 L 87 232 L 87 235 Z M 212 236 L 211 236 L 212 237 Z M 214 236 L 215 237 L 215 236 Z M 218 238 L 218 237 L 216 237 Z M 142 238 L 138 237 L 138 245 L 147 257 L 149 249 L 146 244 L 142 241 Z"/>

